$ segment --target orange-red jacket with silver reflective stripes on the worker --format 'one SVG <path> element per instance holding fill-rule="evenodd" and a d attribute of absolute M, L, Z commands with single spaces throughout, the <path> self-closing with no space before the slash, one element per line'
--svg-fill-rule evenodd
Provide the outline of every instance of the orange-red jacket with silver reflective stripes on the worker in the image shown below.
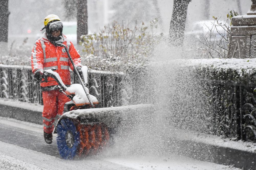
<path fill-rule="evenodd" d="M 71 58 L 76 66 L 81 67 L 81 57 L 75 49 L 74 45 L 64 36 L 64 43 L 70 53 Z M 55 67 L 56 72 L 59 73 L 64 84 L 70 85 L 70 71 L 73 66 L 68 59 L 68 54 L 64 47 L 55 46 L 50 43 L 46 37 L 46 33 L 40 37 L 34 45 L 31 56 L 32 72 L 35 73 L 37 69 L 48 70 Z M 58 83 L 51 77 L 48 77 L 48 82 L 40 84 L 41 87 L 58 85 Z"/>

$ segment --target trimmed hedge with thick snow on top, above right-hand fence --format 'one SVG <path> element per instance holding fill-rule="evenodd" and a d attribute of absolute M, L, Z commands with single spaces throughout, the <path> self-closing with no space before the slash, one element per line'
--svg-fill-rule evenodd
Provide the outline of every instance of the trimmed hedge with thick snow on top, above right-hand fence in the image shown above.
<path fill-rule="evenodd" d="M 231 81 L 244 85 L 255 84 L 256 58 L 245 59 L 196 59 L 188 65 L 195 67 L 202 77 L 219 81 Z"/>

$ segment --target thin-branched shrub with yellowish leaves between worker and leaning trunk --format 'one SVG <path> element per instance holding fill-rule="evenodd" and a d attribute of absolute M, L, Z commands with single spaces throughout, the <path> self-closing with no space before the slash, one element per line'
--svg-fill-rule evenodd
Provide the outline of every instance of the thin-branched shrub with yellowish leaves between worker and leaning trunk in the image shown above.
<path fill-rule="evenodd" d="M 142 22 L 133 28 L 114 21 L 99 33 L 83 35 L 80 45 L 86 55 L 93 54 L 103 59 L 113 55 L 123 61 L 140 60 L 153 51 L 162 37 L 162 34 L 156 35 L 156 29 L 157 20 L 151 21 L 149 26 Z"/>

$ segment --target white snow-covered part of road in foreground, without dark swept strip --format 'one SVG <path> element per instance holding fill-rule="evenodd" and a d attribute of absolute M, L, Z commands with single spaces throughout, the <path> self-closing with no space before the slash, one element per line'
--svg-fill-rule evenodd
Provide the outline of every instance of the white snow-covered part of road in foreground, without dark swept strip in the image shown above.
<path fill-rule="evenodd" d="M 171 158 L 123 156 L 66 161 L 1 141 L 0 146 L 0 169 L 239 169 L 179 155 Z"/>

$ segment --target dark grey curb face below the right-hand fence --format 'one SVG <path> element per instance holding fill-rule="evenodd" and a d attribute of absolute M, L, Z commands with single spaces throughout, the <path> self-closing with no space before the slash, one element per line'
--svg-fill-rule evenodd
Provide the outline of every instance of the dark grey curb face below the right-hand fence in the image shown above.
<path fill-rule="evenodd" d="M 244 170 L 254 169 L 256 167 L 255 152 L 199 143 L 191 140 L 179 140 L 178 142 L 180 149 L 177 150 L 175 148 L 176 145 L 169 145 L 169 149 L 193 159 L 222 165 L 233 165 Z"/>

